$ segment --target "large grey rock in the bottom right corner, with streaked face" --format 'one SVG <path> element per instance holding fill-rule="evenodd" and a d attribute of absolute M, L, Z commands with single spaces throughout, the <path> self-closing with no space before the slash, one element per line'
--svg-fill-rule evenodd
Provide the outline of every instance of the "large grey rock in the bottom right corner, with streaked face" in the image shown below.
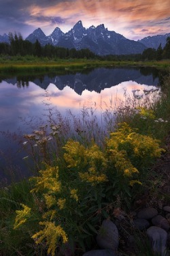
<path fill-rule="evenodd" d="M 152 226 L 147 229 L 146 233 L 152 244 L 153 251 L 160 253 L 161 256 L 167 256 L 167 232 L 160 227 Z"/>

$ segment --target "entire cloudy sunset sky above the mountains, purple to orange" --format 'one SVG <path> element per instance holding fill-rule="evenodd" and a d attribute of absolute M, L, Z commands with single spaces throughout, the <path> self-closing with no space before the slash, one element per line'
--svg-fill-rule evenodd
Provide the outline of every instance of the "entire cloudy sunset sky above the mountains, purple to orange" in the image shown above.
<path fill-rule="evenodd" d="M 82 20 L 87 29 L 104 24 L 131 40 L 170 33 L 169 0 L 0 0 L 0 35 L 16 31 L 26 38 L 40 27 L 64 33 Z"/>

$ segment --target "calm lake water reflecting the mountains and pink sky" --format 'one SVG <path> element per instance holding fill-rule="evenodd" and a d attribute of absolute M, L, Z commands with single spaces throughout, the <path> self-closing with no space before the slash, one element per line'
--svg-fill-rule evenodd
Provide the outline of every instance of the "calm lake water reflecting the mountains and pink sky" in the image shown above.
<path fill-rule="evenodd" d="M 29 171 L 18 142 L 46 122 L 49 111 L 57 109 L 63 116 L 67 110 L 78 115 L 83 106 L 95 109 L 101 116 L 105 109 L 118 106 L 125 94 L 157 87 L 160 74 L 153 68 L 96 68 L 84 72 L 44 74 L 36 76 L 0 77 L 0 177 L 9 178 L 11 170 Z M 20 174 L 18 174 L 20 175 Z"/>

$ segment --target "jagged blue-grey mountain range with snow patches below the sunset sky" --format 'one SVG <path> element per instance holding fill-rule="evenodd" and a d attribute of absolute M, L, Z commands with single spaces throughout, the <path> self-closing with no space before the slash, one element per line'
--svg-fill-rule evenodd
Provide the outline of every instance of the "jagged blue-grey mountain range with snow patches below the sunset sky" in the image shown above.
<path fill-rule="evenodd" d="M 152 37 L 143 38 L 138 41 L 124 38 L 123 35 L 115 31 L 109 31 L 103 24 L 95 27 L 91 26 L 88 29 L 83 27 L 82 21 L 78 21 L 73 28 L 67 33 L 63 33 L 60 28 L 56 27 L 50 35 L 40 29 L 35 29 L 26 40 L 34 43 L 36 40 L 42 46 L 52 44 L 65 48 L 75 48 L 80 50 L 88 48 L 97 55 L 128 55 L 143 53 L 146 48 L 158 48 L 160 42 L 164 47 L 166 44 L 166 35 L 155 35 Z M 0 35 L 0 42 L 9 42 L 8 35 Z"/>

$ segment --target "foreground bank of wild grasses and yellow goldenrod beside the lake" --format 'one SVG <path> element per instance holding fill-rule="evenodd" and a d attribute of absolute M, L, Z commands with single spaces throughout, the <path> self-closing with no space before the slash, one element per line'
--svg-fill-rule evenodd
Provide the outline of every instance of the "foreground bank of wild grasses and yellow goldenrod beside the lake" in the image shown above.
<path fill-rule="evenodd" d="M 24 136 L 37 169 L 29 181 L 0 190 L 2 255 L 65 255 L 66 248 L 82 255 L 103 218 L 128 213 L 146 190 L 159 198 L 154 184 L 161 177 L 152 167 L 170 130 L 170 76 L 161 94 L 143 91 L 107 109 L 104 132 L 94 113 L 82 110 L 73 126 L 58 115 Z"/>

